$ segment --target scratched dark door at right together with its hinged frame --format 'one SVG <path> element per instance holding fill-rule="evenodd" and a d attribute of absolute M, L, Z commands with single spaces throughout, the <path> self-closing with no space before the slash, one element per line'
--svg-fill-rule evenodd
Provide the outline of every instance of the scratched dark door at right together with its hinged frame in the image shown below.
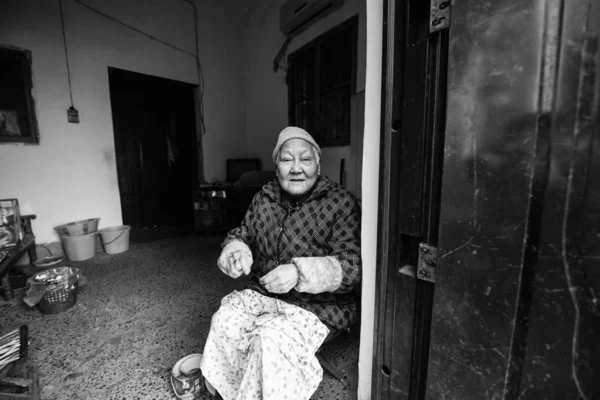
<path fill-rule="evenodd" d="M 428 3 L 385 7 L 372 398 L 594 399 L 600 3 Z"/>

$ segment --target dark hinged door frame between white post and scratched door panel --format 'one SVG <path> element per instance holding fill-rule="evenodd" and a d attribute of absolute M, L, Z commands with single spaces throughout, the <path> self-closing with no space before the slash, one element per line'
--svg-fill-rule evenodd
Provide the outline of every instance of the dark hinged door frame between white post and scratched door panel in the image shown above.
<path fill-rule="evenodd" d="M 423 397 L 427 377 L 448 33 L 443 25 L 431 25 L 428 2 L 384 4 L 382 224 L 372 397 L 416 399 Z"/>

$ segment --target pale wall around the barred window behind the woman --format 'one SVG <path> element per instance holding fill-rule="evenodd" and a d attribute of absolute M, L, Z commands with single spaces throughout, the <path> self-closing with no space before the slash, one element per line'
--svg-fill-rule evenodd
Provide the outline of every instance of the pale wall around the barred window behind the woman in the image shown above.
<path fill-rule="evenodd" d="M 312 39 L 325 33 L 335 25 L 359 16 L 356 91 L 365 88 L 365 2 L 346 0 L 342 8 L 317 21 L 306 31 L 295 37 L 287 49 L 293 53 Z M 285 41 L 279 30 L 279 9 L 285 0 L 267 0 L 247 19 L 245 40 L 246 51 L 246 132 L 248 134 L 247 156 L 258 157 L 264 169 L 272 169 L 271 152 L 277 135 L 288 124 L 288 98 L 285 71 L 273 71 L 272 65 L 277 52 Z M 285 67 L 285 61 L 281 63 Z M 323 148 L 321 172 L 336 182 L 339 181 L 340 160 L 350 167 L 350 146 Z M 349 177 L 353 179 L 353 177 Z M 347 181 L 350 181 L 348 179 Z"/>

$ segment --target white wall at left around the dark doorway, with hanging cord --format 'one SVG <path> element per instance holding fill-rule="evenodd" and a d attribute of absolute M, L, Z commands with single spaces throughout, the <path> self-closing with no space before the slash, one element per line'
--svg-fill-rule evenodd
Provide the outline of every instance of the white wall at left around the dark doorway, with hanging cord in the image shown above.
<path fill-rule="evenodd" d="M 159 39 L 195 52 L 193 8 L 172 0 L 84 0 Z M 37 214 L 38 242 L 55 242 L 53 227 L 99 217 L 122 223 L 110 108 L 109 66 L 197 83 L 195 59 L 64 0 L 75 107 L 70 106 L 58 1 L 0 2 L 0 45 L 32 52 L 39 145 L 0 144 L 0 198 L 19 199 Z M 203 5 L 204 4 L 204 5 Z M 246 148 L 241 28 L 230 13 L 199 1 L 200 61 L 206 82 L 205 176 L 224 179 L 225 159 Z M 239 22 L 239 21 L 238 21 Z"/>

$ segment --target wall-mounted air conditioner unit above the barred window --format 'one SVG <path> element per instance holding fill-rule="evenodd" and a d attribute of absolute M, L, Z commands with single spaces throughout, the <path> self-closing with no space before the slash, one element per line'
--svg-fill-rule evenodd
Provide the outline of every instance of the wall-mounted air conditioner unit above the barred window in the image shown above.
<path fill-rule="evenodd" d="M 279 28 L 286 36 L 294 35 L 343 4 L 344 0 L 288 0 L 279 10 Z"/>

